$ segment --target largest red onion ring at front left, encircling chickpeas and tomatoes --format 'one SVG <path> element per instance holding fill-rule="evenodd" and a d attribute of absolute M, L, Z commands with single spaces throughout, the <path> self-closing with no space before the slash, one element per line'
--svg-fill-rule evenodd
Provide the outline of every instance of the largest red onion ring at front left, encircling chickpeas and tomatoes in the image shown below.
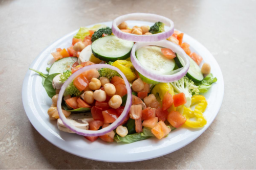
<path fill-rule="evenodd" d="M 71 123 L 69 123 L 67 118 L 63 114 L 62 109 L 61 109 L 62 96 L 63 96 L 63 93 L 65 92 L 65 89 L 67 88 L 67 86 L 78 75 L 82 74 L 82 72 L 84 72 L 84 71 L 94 69 L 94 68 L 96 68 L 96 69 L 110 68 L 110 69 L 113 69 L 113 70 L 117 71 L 124 80 L 124 83 L 125 83 L 125 86 L 126 86 L 126 89 L 127 89 L 127 101 L 126 101 L 126 105 L 124 107 L 124 110 L 123 110 L 122 114 L 110 126 L 105 127 L 103 129 L 100 129 L 100 130 L 97 130 L 97 131 L 82 130 L 82 129 L 79 129 L 79 128 L 73 126 Z M 58 96 L 58 101 L 57 101 L 57 109 L 58 109 L 59 117 L 62 120 L 63 124 L 67 128 L 69 128 L 70 130 L 72 130 L 73 132 L 77 133 L 78 135 L 82 135 L 82 136 L 101 136 L 101 135 L 104 135 L 104 134 L 109 133 L 110 131 L 114 130 L 115 128 L 117 128 L 117 126 L 119 126 L 123 122 L 123 120 L 125 119 L 125 117 L 127 116 L 127 114 L 130 111 L 131 105 L 132 105 L 132 90 L 131 90 L 131 87 L 130 87 L 130 84 L 129 84 L 128 80 L 125 78 L 124 74 L 122 73 L 122 71 L 120 71 L 120 69 L 118 69 L 117 67 L 111 66 L 109 64 L 89 65 L 89 66 L 83 67 L 83 68 L 77 70 L 76 72 L 74 72 L 74 74 L 72 74 L 68 78 L 68 80 L 62 85 L 62 87 L 59 91 L 59 96 Z"/>

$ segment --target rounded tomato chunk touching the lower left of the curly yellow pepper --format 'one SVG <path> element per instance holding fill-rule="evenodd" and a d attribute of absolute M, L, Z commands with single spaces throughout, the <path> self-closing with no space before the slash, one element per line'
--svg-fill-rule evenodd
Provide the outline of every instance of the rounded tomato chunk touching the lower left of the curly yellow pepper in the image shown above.
<path fill-rule="evenodd" d="M 167 120 L 175 128 L 179 128 L 181 125 L 183 125 L 186 122 L 186 118 L 180 114 L 178 111 L 171 111 L 168 116 Z"/>

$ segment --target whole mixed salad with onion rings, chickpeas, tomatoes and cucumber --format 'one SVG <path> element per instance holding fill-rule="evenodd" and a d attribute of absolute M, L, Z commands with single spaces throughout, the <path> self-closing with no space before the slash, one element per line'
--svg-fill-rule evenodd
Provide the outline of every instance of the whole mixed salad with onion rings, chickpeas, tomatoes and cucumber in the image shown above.
<path fill-rule="evenodd" d="M 156 23 L 125 22 L 148 18 Z M 51 53 L 55 62 L 47 74 L 30 68 L 52 99 L 49 121 L 91 142 L 132 143 L 204 127 L 202 94 L 217 78 L 183 36 L 172 20 L 144 13 L 119 16 L 112 28 L 81 27 L 70 47 Z"/>

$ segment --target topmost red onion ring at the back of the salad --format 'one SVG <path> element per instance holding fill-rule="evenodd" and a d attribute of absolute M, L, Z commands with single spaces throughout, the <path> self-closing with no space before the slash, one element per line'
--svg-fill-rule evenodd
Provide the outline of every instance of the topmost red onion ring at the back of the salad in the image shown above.
<path fill-rule="evenodd" d="M 160 22 L 163 22 L 169 28 L 167 29 L 167 31 L 164 31 L 164 32 L 158 33 L 158 34 L 136 35 L 136 34 L 124 33 L 117 27 L 120 23 L 122 23 L 126 20 L 136 20 L 136 19 L 150 19 L 150 20 L 160 21 Z M 119 16 L 116 19 L 114 19 L 113 23 L 112 23 L 112 32 L 116 37 L 125 39 L 128 41 L 155 42 L 155 41 L 160 41 L 160 40 L 166 39 L 173 35 L 174 22 L 164 16 L 161 16 L 161 15 L 148 14 L 148 13 L 132 13 L 132 14 L 122 15 L 122 16 Z"/>

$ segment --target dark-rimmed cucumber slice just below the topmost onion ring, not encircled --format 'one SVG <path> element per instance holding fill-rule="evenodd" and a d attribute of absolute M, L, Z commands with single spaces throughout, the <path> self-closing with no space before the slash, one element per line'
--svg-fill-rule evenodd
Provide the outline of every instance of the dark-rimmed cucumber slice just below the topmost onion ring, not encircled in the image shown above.
<path fill-rule="evenodd" d="M 131 55 L 133 44 L 132 41 L 109 35 L 93 41 L 92 52 L 95 57 L 103 61 L 125 60 Z"/>

